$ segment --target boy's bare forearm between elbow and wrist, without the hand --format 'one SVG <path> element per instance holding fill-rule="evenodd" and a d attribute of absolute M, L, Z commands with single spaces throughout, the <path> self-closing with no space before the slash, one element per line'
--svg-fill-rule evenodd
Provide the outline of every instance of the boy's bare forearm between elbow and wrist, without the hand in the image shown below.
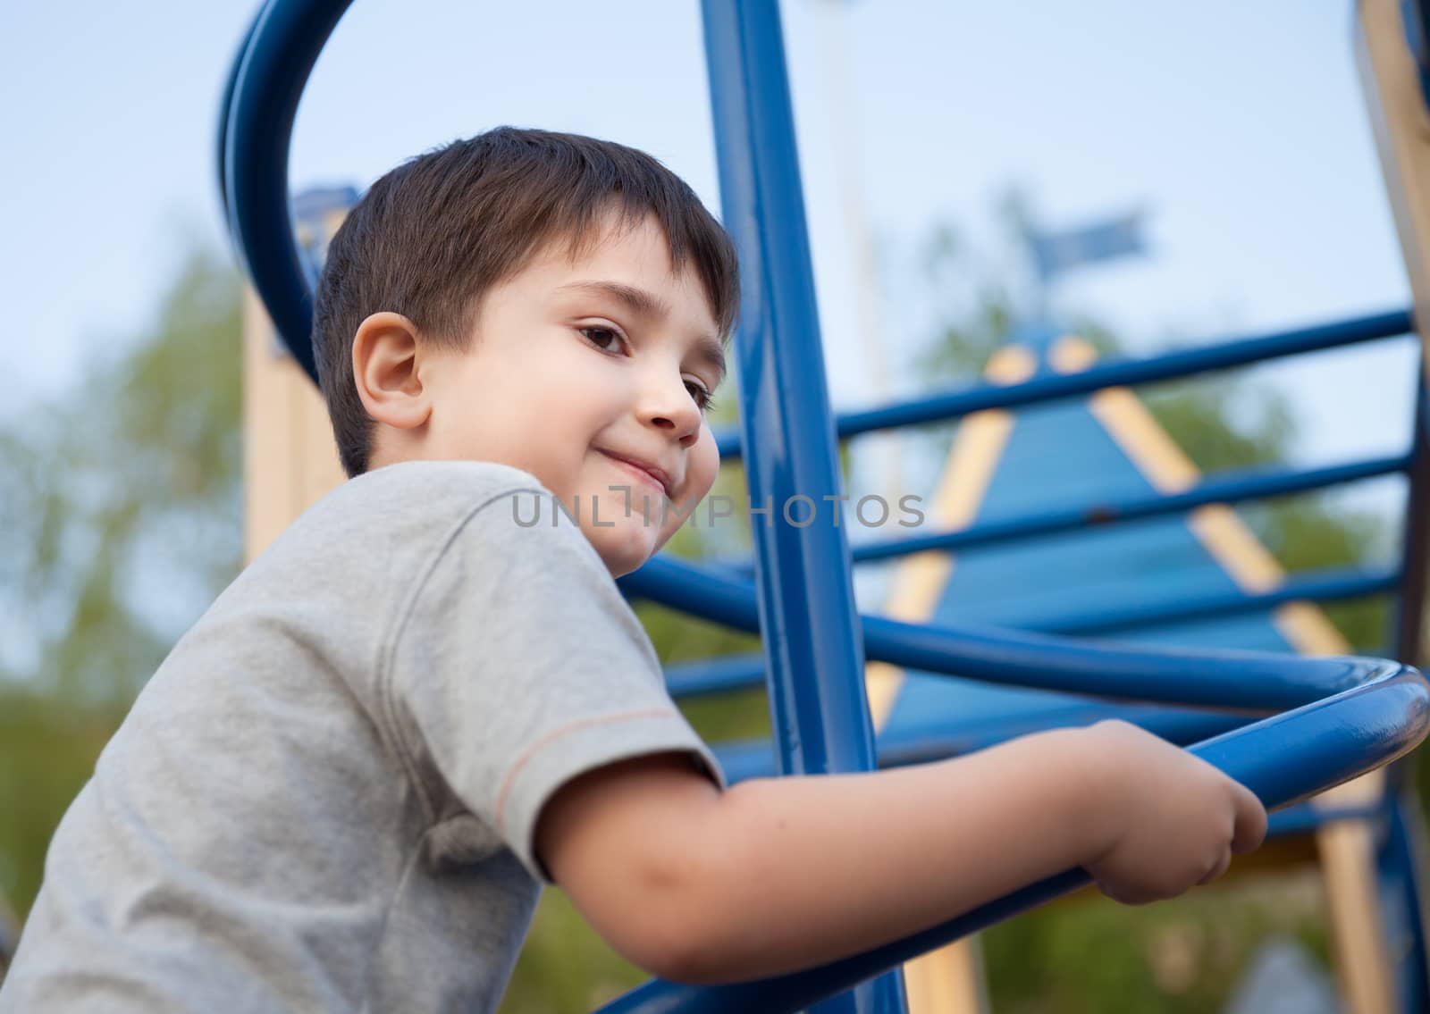
<path fill-rule="evenodd" d="M 1107 847 L 1100 774 L 1077 732 L 968 758 L 736 785 L 674 815 L 651 882 L 692 922 L 689 981 L 772 975 L 942 922 Z M 664 835 L 662 835 L 664 837 Z M 669 850 L 669 851 L 666 851 Z"/>

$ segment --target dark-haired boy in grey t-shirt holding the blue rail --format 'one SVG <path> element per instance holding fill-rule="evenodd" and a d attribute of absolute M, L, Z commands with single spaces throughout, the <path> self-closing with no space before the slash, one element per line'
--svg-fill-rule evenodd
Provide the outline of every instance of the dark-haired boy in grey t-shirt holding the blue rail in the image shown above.
<path fill-rule="evenodd" d="M 1121 724 L 724 788 L 612 576 L 714 482 L 736 292 L 694 193 L 616 144 L 499 129 L 373 184 L 315 315 L 353 479 L 140 695 L 0 1011 L 492 1010 L 543 881 L 654 974 L 732 981 L 1256 847 L 1246 788 Z"/>

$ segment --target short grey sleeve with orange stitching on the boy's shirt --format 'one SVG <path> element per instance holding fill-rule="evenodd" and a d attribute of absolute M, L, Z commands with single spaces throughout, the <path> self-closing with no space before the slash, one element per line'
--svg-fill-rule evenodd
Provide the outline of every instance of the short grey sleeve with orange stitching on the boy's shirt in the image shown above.
<path fill-rule="evenodd" d="M 538 880 L 536 819 L 581 774 L 675 751 L 724 788 L 595 548 L 539 486 L 453 528 L 406 601 L 388 669 L 412 752 Z"/>

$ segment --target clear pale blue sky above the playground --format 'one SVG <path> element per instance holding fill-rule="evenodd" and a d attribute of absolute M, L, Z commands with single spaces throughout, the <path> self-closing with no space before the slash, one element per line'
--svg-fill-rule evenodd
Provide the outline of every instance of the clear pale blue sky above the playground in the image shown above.
<path fill-rule="evenodd" d="M 0 286 L 24 390 L 61 389 L 142 329 L 193 240 L 226 243 L 214 117 L 255 9 L 0 0 Z M 1060 296 L 1137 350 L 1407 305 L 1351 13 L 1348 0 L 788 0 L 837 403 L 874 396 L 869 342 L 897 365 L 922 338 L 898 296 L 917 240 L 938 220 L 990 235 L 1010 182 L 1050 226 L 1148 209 L 1151 256 L 1068 276 Z M 356 0 L 305 94 L 293 186 L 365 186 L 498 123 L 644 147 L 719 205 L 694 0 Z M 894 273 L 872 330 L 839 167 Z M 1266 375 L 1297 398 L 1304 458 L 1406 439 L 1404 348 Z"/>

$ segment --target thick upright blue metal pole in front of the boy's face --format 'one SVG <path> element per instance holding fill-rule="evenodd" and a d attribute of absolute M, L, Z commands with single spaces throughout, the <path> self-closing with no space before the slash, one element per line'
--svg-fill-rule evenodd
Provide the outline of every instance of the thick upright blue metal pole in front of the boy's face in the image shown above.
<path fill-rule="evenodd" d="M 829 521 L 838 499 L 825 499 L 842 483 L 779 9 L 705 0 L 704 14 L 721 199 L 741 256 L 741 418 L 745 446 L 758 449 L 746 476 L 769 508 L 769 523 L 755 526 L 756 586 L 779 769 L 872 771 L 849 546 Z M 807 505 L 814 523 L 789 523 L 786 511 L 804 522 Z M 894 970 L 814 1010 L 902 1013 L 902 977 Z"/>

